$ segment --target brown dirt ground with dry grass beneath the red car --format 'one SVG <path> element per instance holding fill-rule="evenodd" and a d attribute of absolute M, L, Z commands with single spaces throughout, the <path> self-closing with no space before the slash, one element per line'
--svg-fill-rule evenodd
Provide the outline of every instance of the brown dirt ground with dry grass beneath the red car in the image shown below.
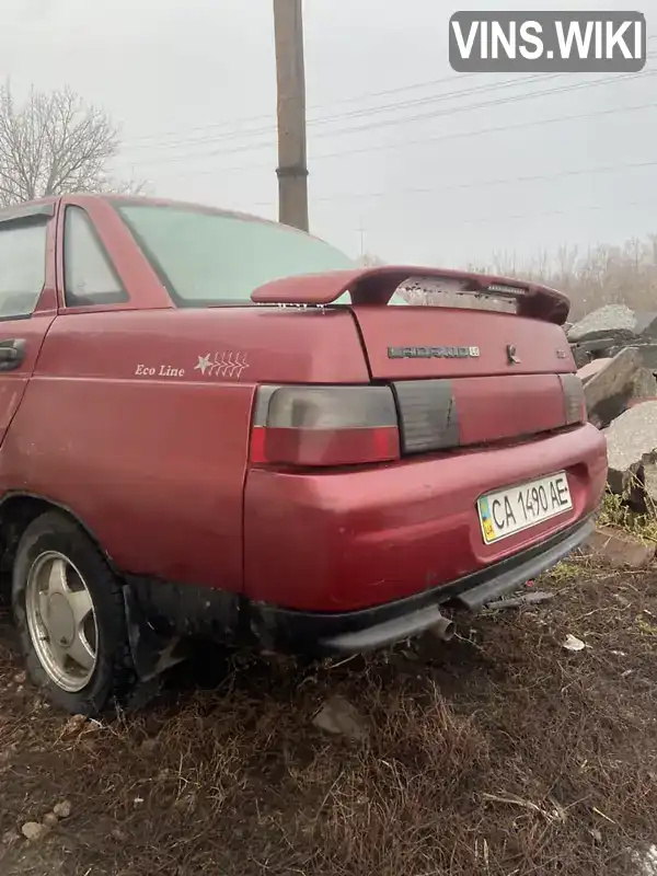
<path fill-rule="evenodd" d="M 0 874 L 650 874 L 657 573 L 566 564 L 541 586 L 558 597 L 465 619 L 450 645 L 205 654 L 102 724 L 45 707 L 0 637 Z M 364 738 L 313 726 L 335 694 Z"/>

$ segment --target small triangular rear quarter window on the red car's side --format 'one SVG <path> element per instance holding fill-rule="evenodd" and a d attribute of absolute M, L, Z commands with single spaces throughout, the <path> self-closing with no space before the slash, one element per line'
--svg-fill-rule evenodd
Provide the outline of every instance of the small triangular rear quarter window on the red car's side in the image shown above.
<path fill-rule="evenodd" d="M 81 207 L 66 208 L 64 287 L 69 308 L 120 304 L 128 300 L 91 220 Z"/>

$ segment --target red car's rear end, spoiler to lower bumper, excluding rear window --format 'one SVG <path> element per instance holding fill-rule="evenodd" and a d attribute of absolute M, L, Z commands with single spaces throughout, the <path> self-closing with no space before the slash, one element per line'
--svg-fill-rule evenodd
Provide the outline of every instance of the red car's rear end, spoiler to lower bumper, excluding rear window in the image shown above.
<path fill-rule="evenodd" d="M 407 274 L 295 277 L 253 296 L 316 307 L 348 288 L 370 376 L 258 388 L 245 593 L 268 644 L 341 653 L 417 634 L 446 602 L 476 609 L 591 531 L 606 446 L 586 422 L 565 299 L 431 272 L 515 312 L 387 306 Z"/>

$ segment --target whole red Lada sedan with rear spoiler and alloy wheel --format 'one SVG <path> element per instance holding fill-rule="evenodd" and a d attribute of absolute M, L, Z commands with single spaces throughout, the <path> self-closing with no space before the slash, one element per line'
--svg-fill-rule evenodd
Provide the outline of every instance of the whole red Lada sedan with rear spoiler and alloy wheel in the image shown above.
<path fill-rule="evenodd" d="M 0 268 L 2 564 L 62 708 L 194 636 L 342 654 L 445 630 L 591 530 L 606 447 L 552 289 L 100 196 L 0 214 Z M 395 306 L 417 275 L 512 312 Z"/>

